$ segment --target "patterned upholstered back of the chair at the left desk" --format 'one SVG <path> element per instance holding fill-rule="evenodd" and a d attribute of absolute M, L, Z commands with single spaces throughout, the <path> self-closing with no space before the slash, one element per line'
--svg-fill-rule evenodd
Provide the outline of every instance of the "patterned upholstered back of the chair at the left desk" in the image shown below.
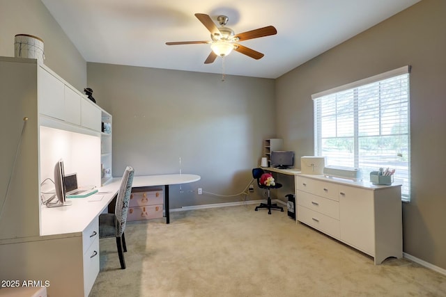
<path fill-rule="evenodd" d="M 124 171 L 123 179 L 121 180 L 121 187 L 119 188 L 118 197 L 116 198 L 116 237 L 121 237 L 125 230 L 130 193 L 132 193 L 133 175 L 133 168 L 127 166 Z"/>

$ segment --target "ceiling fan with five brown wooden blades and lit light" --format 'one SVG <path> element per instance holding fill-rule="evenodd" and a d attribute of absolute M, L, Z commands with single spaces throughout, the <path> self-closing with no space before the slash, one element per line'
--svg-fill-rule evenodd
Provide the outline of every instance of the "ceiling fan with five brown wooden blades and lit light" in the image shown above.
<path fill-rule="evenodd" d="M 264 56 L 262 53 L 259 53 L 259 51 L 254 51 L 254 49 L 249 49 L 249 47 L 239 45 L 238 42 L 277 34 L 277 30 L 274 26 L 266 26 L 252 31 L 234 34 L 232 29 L 226 27 L 226 23 L 228 22 L 228 17 L 226 17 L 226 15 L 220 15 L 217 17 L 217 21 L 220 23 L 220 28 L 215 26 L 209 15 L 196 13 L 195 17 L 197 17 L 197 19 L 199 19 L 199 21 L 210 31 L 211 40 L 166 42 L 166 45 L 195 45 L 201 43 L 210 44 L 212 51 L 210 52 L 208 58 L 206 58 L 206 61 L 204 61 L 205 64 L 213 63 L 217 56 L 224 57 L 229 55 L 232 50 L 259 60 L 259 58 Z"/>

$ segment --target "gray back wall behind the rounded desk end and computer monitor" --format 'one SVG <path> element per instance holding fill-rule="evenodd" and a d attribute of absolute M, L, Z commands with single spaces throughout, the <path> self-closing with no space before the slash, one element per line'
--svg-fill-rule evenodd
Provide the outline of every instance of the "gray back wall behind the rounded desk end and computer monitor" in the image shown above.
<path fill-rule="evenodd" d="M 87 63 L 96 102 L 113 115 L 113 175 L 192 173 L 199 182 L 171 186 L 171 208 L 240 201 L 275 136 L 275 81 Z M 181 164 L 179 159 L 181 158 Z M 256 193 L 248 200 L 260 199 Z"/>

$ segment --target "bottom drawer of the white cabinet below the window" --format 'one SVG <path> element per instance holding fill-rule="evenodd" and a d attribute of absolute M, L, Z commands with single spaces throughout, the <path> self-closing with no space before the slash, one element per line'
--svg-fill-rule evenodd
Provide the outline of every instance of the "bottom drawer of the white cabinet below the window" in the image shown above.
<path fill-rule="evenodd" d="M 335 239 L 341 237 L 339 220 L 325 216 L 325 214 L 318 213 L 312 209 L 307 209 L 307 207 L 298 206 L 298 221 L 312 226 Z"/>

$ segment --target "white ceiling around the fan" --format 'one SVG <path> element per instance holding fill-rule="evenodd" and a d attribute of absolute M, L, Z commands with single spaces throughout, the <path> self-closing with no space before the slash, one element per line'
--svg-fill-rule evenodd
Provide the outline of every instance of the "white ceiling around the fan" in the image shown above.
<path fill-rule="evenodd" d="M 265 54 L 236 51 L 224 72 L 275 79 L 420 0 L 42 0 L 87 62 L 222 73 L 222 58 L 204 64 L 210 40 L 194 13 L 242 33 L 275 26 L 277 35 L 240 42 Z M 217 24 L 217 26 L 220 26 Z"/>

